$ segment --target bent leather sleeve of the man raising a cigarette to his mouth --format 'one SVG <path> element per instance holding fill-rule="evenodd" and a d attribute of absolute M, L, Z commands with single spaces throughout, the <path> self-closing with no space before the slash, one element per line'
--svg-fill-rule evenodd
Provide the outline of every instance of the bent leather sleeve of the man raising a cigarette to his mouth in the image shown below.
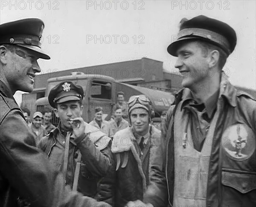
<path fill-rule="evenodd" d="M 85 164 L 87 164 L 88 169 L 94 172 L 96 175 L 102 176 L 106 173 L 111 167 L 111 150 L 108 143 L 108 146 L 105 149 L 100 150 L 88 137 L 90 135 L 83 133 L 80 137 L 74 139 L 77 147 L 81 152 L 81 156 Z M 108 137 L 106 137 L 108 138 Z M 108 142 L 108 139 L 105 137 L 102 138 L 102 144 Z"/>

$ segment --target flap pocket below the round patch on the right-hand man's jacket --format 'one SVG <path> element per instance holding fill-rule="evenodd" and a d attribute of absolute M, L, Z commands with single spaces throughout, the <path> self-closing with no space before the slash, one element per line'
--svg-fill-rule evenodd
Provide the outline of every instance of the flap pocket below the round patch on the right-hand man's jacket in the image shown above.
<path fill-rule="evenodd" d="M 256 173 L 222 169 L 221 183 L 228 187 L 233 187 L 240 193 L 248 193 L 256 190 Z"/>

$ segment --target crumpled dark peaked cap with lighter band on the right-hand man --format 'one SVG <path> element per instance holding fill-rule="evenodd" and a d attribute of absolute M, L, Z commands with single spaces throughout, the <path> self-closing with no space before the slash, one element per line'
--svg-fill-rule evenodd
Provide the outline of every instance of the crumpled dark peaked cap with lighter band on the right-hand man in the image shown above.
<path fill-rule="evenodd" d="M 186 40 L 207 41 L 230 55 L 236 47 L 236 32 L 224 22 L 200 15 L 191 20 L 181 20 L 178 38 L 167 48 L 169 54 L 177 56 L 177 47 Z"/>

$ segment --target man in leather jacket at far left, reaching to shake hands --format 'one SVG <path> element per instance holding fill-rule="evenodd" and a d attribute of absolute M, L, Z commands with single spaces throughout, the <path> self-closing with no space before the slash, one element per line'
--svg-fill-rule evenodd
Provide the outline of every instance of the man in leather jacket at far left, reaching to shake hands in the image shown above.
<path fill-rule="evenodd" d="M 42 20 L 30 18 L 0 25 L 0 206 L 106 207 L 108 204 L 71 192 L 63 174 L 36 147 L 13 94 L 32 92 L 41 50 Z"/>

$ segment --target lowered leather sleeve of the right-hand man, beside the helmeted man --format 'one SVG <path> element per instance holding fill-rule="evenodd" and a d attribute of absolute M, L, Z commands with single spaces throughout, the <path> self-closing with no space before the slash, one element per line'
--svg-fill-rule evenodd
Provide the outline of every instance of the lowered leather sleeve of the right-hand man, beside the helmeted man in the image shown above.
<path fill-rule="evenodd" d="M 167 131 L 172 118 L 171 107 L 161 126 L 161 145 L 158 146 L 159 152 L 153 160 L 150 178 L 150 185 L 144 194 L 144 203 L 150 203 L 154 207 L 166 207 L 168 204 L 168 189 L 166 182 L 166 147 L 168 142 Z"/>

